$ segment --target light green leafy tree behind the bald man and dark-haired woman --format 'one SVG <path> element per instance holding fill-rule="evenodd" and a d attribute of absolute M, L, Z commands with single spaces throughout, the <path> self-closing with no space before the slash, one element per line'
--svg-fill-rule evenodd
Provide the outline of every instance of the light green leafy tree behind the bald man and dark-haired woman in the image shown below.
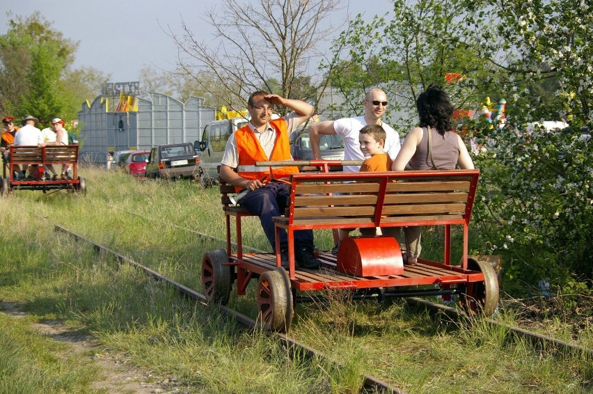
<path fill-rule="evenodd" d="M 361 92 L 379 86 L 390 99 L 388 111 L 407 111 L 396 120 L 406 125 L 404 132 L 416 119 L 418 93 L 429 84 L 445 84 L 445 75 L 454 72 L 464 76 L 449 86 L 457 107 L 476 107 L 493 73 L 470 38 L 472 31 L 484 28 L 483 21 L 468 24 L 465 14 L 460 0 L 395 0 L 393 14 L 370 23 L 358 15 L 333 45 L 340 60 L 334 58 L 330 78 L 345 93 L 345 106 L 360 107 Z"/>

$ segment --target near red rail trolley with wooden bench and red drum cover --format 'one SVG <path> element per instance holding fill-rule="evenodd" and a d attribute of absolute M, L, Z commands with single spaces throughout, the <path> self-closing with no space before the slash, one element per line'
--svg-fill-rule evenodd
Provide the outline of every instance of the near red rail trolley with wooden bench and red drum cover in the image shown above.
<path fill-rule="evenodd" d="M 253 215 L 232 205 L 230 196 L 235 189 L 221 182 L 227 244 L 226 249 L 209 251 L 203 258 L 202 282 L 209 301 L 227 304 L 233 283 L 237 283 L 237 294 L 245 295 L 248 283 L 257 279 L 262 324 L 281 332 L 290 329 L 294 306 L 301 298 L 297 291 L 374 289 L 386 297 L 441 295 L 443 299 L 457 294 L 469 313 L 488 316 L 496 310 L 496 271 L 489 262 L 468 257 L 468 225 L 479 170 L 329 173 L 330 166 L 341 166 L 342 161 L 264 161 L 257 165 L 309 165 L 324 172 L 291 175 L 290 204 L 285 216 L 274 218 L 276 232 L 284 228 L 288 234 L 288 271 L 280 267 L 279 253 L 243 251 L 241 219 Z M 231 249 L 231 217 L 235 218 L 236 253 Z M 319 270 L 295 269 L 295 230 L 436 225 L 444 226 L 443 262 L 418 258 L 417 265 L 403 265 L 395 238 L 349 237 L 342 241 L 337 256 L 316 252 L 323 263 Z M 452 225 L 463 226 L 463 257 L 457 266 L 451 261 Z M 279 250 L 277 236 L 276 242 Z M 409 289 L 422 285 L 429 288 Z"/>

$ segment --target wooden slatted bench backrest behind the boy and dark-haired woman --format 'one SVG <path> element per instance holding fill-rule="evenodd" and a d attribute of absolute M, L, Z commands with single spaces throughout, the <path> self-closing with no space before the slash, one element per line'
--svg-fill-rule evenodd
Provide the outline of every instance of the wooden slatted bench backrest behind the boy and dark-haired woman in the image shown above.
<path fill-rule="evenodd" d="M 478 170 L 295 174 L 288 216 L 290 223 L 296 219 L 311 224 L 331 217 L 342 223 L 372 221 L 376 226 L 467 224 L 479 174 Z"/>

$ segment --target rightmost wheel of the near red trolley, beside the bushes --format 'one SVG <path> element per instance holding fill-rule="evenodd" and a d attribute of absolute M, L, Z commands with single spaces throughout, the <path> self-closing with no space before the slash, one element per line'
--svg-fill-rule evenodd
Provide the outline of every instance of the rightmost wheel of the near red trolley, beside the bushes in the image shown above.
<path fill-rule="evenodd" d="M 472 282 L 466 285 L 465 294 L 461 295 L 461 305 L 469 315 L 483 313 L 491 316 L 498 306 L 498 278 L 489 262 L 468 258 L 468 269 L 481 271 L 484 282 Z"/>

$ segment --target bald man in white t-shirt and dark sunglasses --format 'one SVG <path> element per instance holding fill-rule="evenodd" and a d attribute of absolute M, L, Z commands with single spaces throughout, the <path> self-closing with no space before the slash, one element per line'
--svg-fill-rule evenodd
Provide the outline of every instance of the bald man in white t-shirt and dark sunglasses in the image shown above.
<path fill-rule="evenodd" d="M 309 126 L 309 138 L 313 157 L 320 160 L 321 151 L 319 150 L 319 134 L 340 134 L 344 137 L 344 159 L 345 160 L 364 160 L 365 155 L 361 151 L 361 145 L 358 141 L 360 130 L 366 125 L 380 125 L 387 134 L 384 151 L 392 160 L 395 160 L 397 153 L 400 152 L 400 135 L 384 123 L 381 118 L 385 114 L 387 107 L 387 95 L 379 88 L 372 88 L 367 91 L 363 106 L 365 114 L 355 118 L 341 118 L 338 120 L 324 120 L 323 122 L 313 123 Z M 356 172 L 361 166 L 344 166 L 345 172 Z M 365 234 L 366 235 L 366 234 Z M 338 246 L 335 245 L 331 252 L 338 254 Z"/>

